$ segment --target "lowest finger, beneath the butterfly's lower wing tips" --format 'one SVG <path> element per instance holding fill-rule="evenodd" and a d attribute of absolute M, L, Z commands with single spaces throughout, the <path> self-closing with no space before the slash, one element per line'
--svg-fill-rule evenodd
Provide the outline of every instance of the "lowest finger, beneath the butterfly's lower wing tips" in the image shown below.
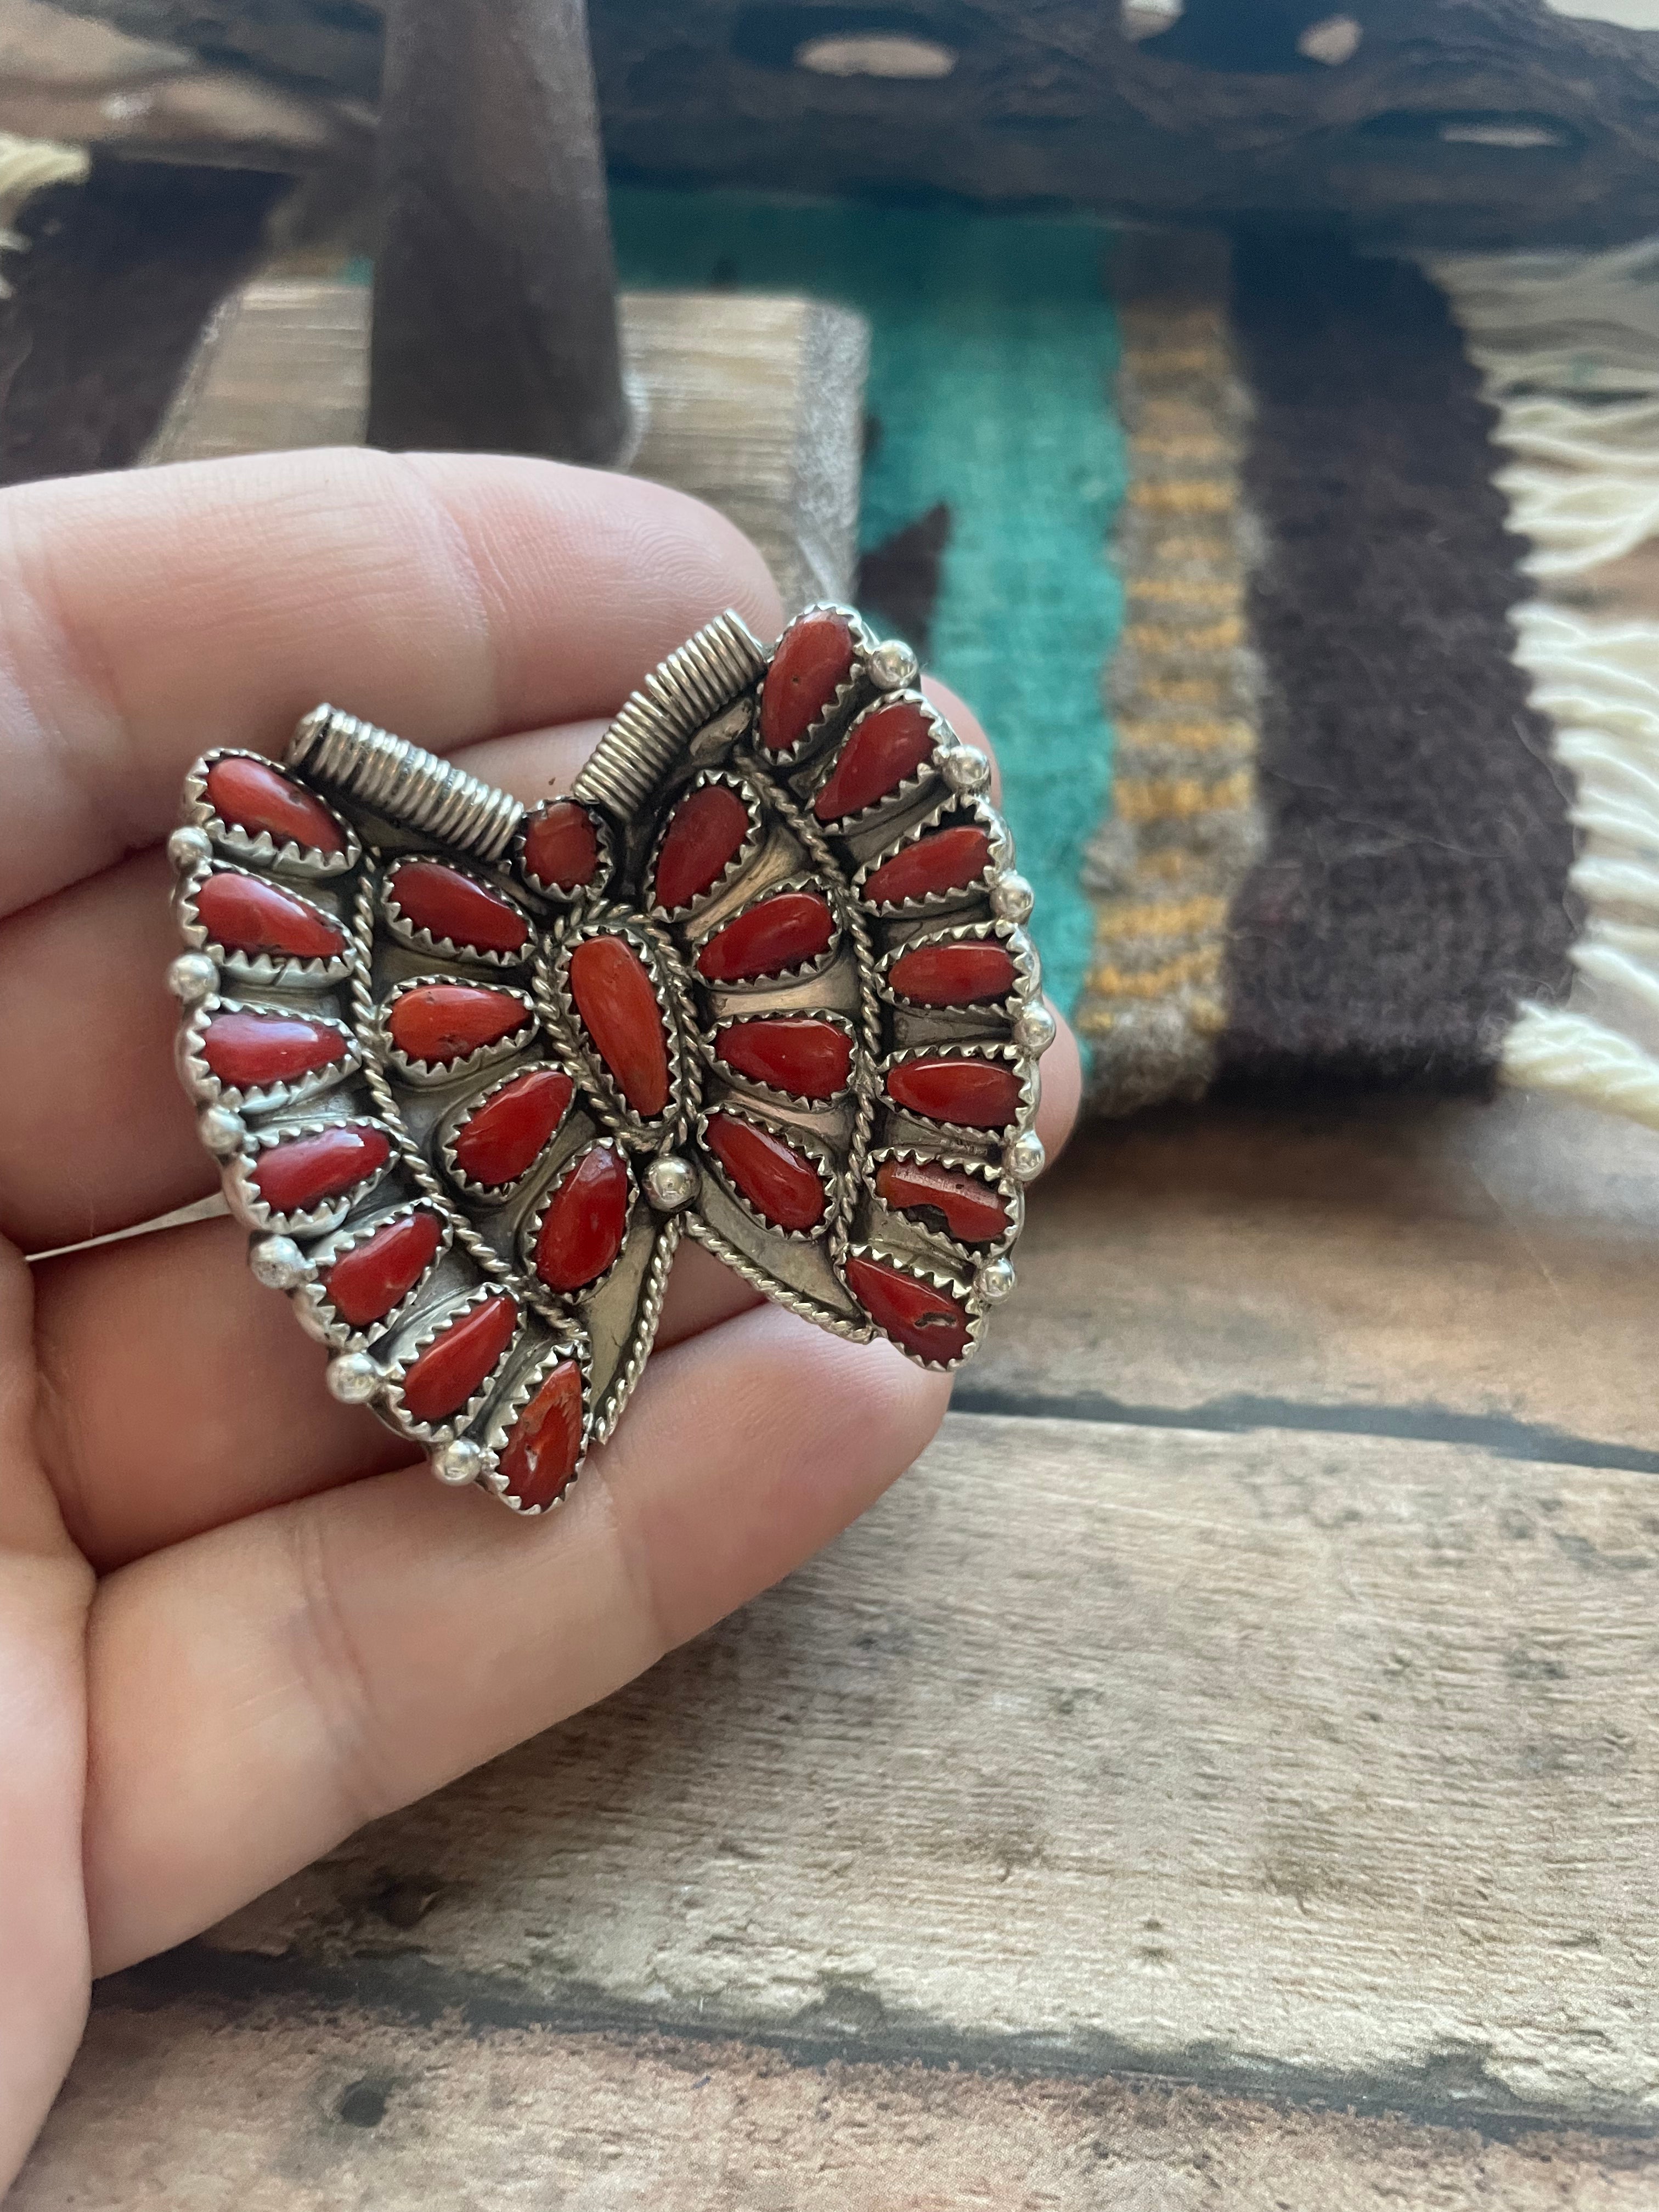
<path fill-rule="evenodd" d="M 860 1513 L 945 1400 L 896 1352 L 765 1310 L 653 1360 L 538 1526 L 405 1471 L 111 1577 L 88 1639 L 95 1971 L 619 1688 Z"/>

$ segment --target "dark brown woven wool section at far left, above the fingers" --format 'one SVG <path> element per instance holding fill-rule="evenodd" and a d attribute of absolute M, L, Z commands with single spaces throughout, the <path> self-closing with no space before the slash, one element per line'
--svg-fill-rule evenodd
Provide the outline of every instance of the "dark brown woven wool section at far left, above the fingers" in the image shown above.
<path fill-rule="evenodd" d="M 161 422 L 201 325 L 288 179 L 95 161 L 29 201 L 0 301 L 0 484 L 122 469 Z"/>

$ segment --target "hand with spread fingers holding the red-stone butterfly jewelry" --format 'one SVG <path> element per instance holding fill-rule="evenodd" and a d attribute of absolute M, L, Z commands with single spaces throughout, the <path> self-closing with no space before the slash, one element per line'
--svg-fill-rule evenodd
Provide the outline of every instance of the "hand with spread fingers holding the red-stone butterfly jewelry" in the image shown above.
<path fill-rule="evenodd" d="M 615 1442 L 524 1524 L 330 1400 L 232 1221 L 24 1261 L 212 1188 L 161 987 L 197 752 L 276 752 L 334 699 L 535 799 L 728 604 L 776 633 L 726 522 L 544 462 L 259 456 L 0 498 L 0 2188 L 91 1975 L 606 1697 L 938 1427 L 942 1378 L 686 1243 Z M 1044 1075 L 1053 1150 L 1066 1035 Z"/>

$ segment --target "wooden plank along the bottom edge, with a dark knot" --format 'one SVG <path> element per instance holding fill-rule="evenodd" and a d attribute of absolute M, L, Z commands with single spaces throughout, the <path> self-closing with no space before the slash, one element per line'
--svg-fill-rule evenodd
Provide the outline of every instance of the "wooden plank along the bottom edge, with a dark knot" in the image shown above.
<path fill-rule="evenodd" d="M 741 2044 L 102 2011 L 13 2212 L 1650 2212 L 1655 2150 Z"/>

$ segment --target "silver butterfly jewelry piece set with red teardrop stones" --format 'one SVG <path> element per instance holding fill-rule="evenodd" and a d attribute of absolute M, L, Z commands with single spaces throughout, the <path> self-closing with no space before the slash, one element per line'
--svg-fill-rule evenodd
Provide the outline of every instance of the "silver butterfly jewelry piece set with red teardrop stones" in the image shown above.
<path fill-rule="evenodd" d="M 1053 1018 L 987 763 L 845 608 L 734 615 L 575 792 L 319 708 L 173 836 L 179 1068 L 259 1281 L 449 1482 L 555 1504 L 681 1234 L 956 1367 L 1013 1287 Z"/>

